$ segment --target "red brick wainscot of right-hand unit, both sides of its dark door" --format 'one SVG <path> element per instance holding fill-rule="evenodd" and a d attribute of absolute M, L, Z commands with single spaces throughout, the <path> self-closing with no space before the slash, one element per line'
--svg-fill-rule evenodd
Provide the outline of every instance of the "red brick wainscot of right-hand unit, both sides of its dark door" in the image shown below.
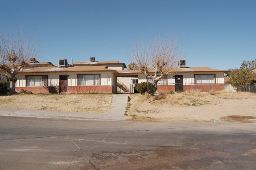
<path fill-rule="evenodd" d="M 175 85 L 158 85 L 158 92 L 160 93 L 166 93 L 170 91 L 175 92 Z M 183 85 L 183 91 L 204 91 L 208 92 L 210 90 L 212 91 L 222 91 L 225 89 L 224 84 L 212 84 L 212 85 Z"/>

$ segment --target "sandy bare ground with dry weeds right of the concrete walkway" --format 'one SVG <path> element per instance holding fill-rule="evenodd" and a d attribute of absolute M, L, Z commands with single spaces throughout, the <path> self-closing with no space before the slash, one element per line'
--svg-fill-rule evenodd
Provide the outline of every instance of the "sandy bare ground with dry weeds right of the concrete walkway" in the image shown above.
<path fill-rule="evenodd" d="M 256 94 L 231 93 L 169 94 L 160 100 L 151 97 L 150 103 L 146 95 L 132 94 L 127 114 L 132 121 L 256 122 Z"/>

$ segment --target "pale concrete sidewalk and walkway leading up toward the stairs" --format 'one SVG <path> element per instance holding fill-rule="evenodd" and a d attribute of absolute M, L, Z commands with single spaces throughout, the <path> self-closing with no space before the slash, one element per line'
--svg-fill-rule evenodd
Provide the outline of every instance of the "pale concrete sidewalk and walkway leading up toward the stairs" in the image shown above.
<path fill-rule="evenodd" d="M 126 120 L 124 116 L 125 107 L 130 94 L 118 94 L 113 96 L 111 109 L 107 114 L 77 113 L 64 111 L 14 109 L 0 107 L 0 116 L 20 116 L 36 118 L 58 118 L 58 119 L 103 119 L 103 120 Z"/>

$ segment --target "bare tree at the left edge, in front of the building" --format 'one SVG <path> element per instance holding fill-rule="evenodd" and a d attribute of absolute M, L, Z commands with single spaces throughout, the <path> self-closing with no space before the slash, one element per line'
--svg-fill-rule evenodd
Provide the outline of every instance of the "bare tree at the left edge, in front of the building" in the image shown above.
<path fill-rule="evenodd" d="M 9 94 L 17 94 L 15 83 L 16 74 L 22 67 L 28 67 L 30 58 L 39 57 L 39 44 L 33 38 L 26 35 L 24 30 L 17 28 L 16 35 L 11 31 L 0 30 L 0 73 L 10 81 Z"/>

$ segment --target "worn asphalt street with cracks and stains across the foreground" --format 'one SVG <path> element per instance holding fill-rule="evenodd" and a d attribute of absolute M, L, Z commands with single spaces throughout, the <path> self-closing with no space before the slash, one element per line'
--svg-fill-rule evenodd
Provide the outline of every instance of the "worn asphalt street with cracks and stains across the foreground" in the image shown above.
<path fill-rule="evenodd" d="M 254 170 L 256 123 L 0 116 L 0 170 Z"/>

